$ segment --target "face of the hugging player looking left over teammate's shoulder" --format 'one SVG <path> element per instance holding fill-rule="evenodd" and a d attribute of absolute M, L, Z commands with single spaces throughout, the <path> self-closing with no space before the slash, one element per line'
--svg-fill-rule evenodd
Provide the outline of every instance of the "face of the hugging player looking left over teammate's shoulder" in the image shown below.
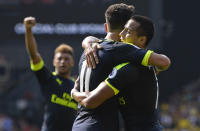
<path fill-rule="evenodd" d="M 134 20 L 129 20 L 122 32 L 120 33 L 120 39 L 122 42 L 128 42 L 132 43 L 134 45 L 138 44 L 139 37 L 137 35 L 136 29 L 139 26 L 139 23 L 137 23 Z"/>

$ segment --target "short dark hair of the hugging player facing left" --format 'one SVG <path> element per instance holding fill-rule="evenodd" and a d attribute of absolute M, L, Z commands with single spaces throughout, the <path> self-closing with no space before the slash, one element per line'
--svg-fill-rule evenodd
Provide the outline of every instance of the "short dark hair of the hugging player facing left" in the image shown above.
<path fill-rule="evenodd" d="M 139 23 L 139 26 L 136 29 L 137 35 L 147 37 L 147 46 L 154 36 L 154 25 L 152 20 L 146 16 L 141 15 L 134 15 L 131 17 L 131 19 Z"/>

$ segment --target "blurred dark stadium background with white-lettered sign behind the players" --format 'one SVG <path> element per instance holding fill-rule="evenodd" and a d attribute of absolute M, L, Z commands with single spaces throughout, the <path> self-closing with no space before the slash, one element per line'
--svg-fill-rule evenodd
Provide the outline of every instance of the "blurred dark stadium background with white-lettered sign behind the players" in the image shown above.
<path fill-rule="evenodd" d="M 77 76 L 85 36 L 104 37 L 104 11 L 113 3 L 134 4 L 136 14 L 153 19 L 156 34 L 151 49 L 170 57 L 160 73 L 161 121 L 169 129 L 198 130 L 200 125 L 200 61 L 198 1 L 164 0 L 0 0 L 0 130 L 38 130 L 42 97 L 29 69 L 23 18 L 34 16 L 39 51 L 53 70 L 53 51 L 60 43 L 75 50 Z M 39 112 L 39 113 L 38 113 Z M 7 131 L 6 130 L 6 131 Z M 199 129 L 200 130 L 200 129 Z"/>

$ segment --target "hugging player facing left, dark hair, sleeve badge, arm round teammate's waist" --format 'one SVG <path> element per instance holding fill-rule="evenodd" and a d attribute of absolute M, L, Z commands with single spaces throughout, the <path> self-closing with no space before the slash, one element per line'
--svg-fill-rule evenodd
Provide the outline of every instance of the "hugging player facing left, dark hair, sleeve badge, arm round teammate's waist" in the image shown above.
<path fill-rule="evenodd" d="M 153 33 L 154 27 L 150 19 L 134 16 L 120 35 L 123 41 L 146 48 Z M 88 108 L 98 108 L 104 101 L 119 94 L 120 111 L 128 131 L 161 131 L 157 112 L 158 92 L 153 67 L 123 63 L 113 69 L 105 82 L 79 101 Z"/>

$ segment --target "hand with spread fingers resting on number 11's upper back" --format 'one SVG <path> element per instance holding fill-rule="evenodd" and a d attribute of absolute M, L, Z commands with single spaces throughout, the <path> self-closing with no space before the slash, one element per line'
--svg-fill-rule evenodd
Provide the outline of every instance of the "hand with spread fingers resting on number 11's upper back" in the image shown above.
<path fill-rule="evenodd" d="M 102 49 L 98 43 L 88 43 L 87 47 L 84 50 L 87 66 L 91 68 L 96 68 L 96 64 L 99 63 L 97 56 L 97 50 Z"/>

